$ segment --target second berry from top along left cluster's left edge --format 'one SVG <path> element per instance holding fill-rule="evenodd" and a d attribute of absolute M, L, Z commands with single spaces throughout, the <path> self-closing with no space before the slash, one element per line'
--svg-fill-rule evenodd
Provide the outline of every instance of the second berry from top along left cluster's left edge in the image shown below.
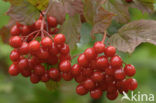
<path fill-rule="evenodd" d="M 19 48 L 22 45 L 22 40 L 19 36 L 13 36 L 9 40 L 10 45 L 14 48 Z"/>

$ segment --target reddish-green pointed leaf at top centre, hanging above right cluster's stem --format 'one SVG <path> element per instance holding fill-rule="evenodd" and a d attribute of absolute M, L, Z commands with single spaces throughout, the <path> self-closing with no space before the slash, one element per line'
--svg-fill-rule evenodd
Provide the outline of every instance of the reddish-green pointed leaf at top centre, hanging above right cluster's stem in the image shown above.
<path fill-rule="evenodd" d="M 103 33 L 111 24 L 114 14 L 102 7 L 102 0 L 84 0 L 84 16 L 93 26 L 91 34 Z"/>

